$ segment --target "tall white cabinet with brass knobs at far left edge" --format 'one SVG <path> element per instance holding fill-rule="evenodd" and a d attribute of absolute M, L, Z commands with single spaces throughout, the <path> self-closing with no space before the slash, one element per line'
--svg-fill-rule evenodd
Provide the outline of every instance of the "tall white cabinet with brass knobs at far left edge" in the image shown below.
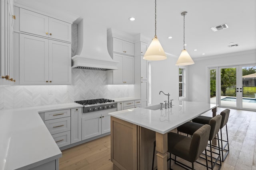
<path fill-rule="evenodd" d="M 13 67 L 13 0 L 0 1 L 0 86 L 15 82 Z"/>

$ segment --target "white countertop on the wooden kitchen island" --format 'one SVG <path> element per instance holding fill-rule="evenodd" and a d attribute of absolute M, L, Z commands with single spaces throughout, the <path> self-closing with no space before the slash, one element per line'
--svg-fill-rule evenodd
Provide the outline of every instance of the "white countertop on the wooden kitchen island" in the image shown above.
<path fill-rule="evenodd" d="M 187 121 L 194 119 L 198 115 L 217 107 L 215 104 L 202 102 L 173 101 L 172 104 L 173 106 L 171 108 L 163 108 L 163 110 L 136 107 L 115 111 L 109 113 L 109 115 L 165 134 Z"/>

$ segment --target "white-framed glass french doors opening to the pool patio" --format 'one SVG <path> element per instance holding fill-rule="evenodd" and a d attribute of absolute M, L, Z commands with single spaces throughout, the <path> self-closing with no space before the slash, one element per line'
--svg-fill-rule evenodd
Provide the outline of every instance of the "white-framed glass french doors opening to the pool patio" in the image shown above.
<path fill-rule="evenodd" d="M 210 103 L 256 110 L 256 64 L 209 68 Z"/>

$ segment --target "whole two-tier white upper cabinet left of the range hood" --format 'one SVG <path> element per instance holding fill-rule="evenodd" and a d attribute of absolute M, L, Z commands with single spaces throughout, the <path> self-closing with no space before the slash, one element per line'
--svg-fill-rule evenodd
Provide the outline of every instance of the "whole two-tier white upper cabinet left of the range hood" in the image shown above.
<path fill-rule="evenodd" d="M 18 84 L 71 84 L 71 23 L 16 6 L 14 12 Z"/>

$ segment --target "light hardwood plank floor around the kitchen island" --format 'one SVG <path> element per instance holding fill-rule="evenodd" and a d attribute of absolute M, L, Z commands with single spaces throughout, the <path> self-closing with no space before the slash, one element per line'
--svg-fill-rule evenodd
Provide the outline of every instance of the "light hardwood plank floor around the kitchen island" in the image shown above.
<path fill-rule="evenodd" d="M 224 109 L 219 107 L 217 114 Z M 209 111 L 204 115 L 210 116 L 211 114 Z M 221 170 L 256 170 L 256 112 L 230 109 L 227 125 L 230 152 L 222 163 Z M 206 169 L 197 163 L 195 163 L 195 168 L 196 170 Z M 112 169 L 110 135 L 62 150 L 60 170 Z M 173 164 L 172 161 L 172 169 L 180 170 L 182 168 Z M 218 169 L 218 166 L 215 169 Z"/>

